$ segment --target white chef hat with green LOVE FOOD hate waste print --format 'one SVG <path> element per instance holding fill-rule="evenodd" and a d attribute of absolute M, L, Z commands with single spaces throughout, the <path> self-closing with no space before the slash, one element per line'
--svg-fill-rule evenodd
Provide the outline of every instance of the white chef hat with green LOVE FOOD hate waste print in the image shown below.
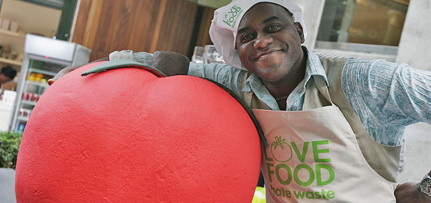
<path fill-rule="evenodd" d="M 294 21 L 302 25 L 304 39 L 307 36 L 302 10 L 293 0 L 233 0 L 230 4 L 214 11 L 214 18 L 211 20 L 211 26 L 209 27 L 209 37 L 214 43 L 215 49 L 233 67 L 245 70 L 235 48 L 239 22 L 245 12 L 255 4 L 262 2 L 277 4 L 292 12 Z"/>

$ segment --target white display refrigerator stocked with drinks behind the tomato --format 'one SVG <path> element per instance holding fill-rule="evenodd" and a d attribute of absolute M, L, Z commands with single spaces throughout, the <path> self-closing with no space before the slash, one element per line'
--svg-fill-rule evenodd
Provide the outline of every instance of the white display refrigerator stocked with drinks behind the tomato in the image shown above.
<path fill-rule="evenodd" d="M 34 106 L 48 88 L 47 80 L 64 67 L 87 64 L 90 53 L 90 49 L 73 42 L 27 34 L 10 130 L 23 132 Z"/>

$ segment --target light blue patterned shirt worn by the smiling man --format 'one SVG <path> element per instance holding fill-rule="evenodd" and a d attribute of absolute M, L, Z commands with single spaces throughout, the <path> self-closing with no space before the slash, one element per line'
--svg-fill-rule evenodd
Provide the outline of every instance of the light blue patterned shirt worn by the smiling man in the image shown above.
<path fill-rule="evenodd" d="M 305 85 L 311 76 L 319 75 L 327 81 L 318 56 L 304 49 L 308 56 L 305 77 L 288 96 L 286 111 L 302 110 Z M 137 52 L 133 53 L 133 60 L 151 64 L 152 56 L 150 53 Z M 237 95 L 241 95 L 241 91 L 253 91 L 268 107 L 279 111 L 275 98 L 259 77 L 250 75 L 246 86 L 241 89 L 243 74 L 247 74 L 246 71 L 228 64 L 190 62 L 189 66 L 189 75 L 217 81 Z M 380 144 L 401 144 L 404 129 L 409 124 L 431 124 L 431 72 L 380 59 L 349 58 L 342 73 L 342 86 L 365 129 Z"/>

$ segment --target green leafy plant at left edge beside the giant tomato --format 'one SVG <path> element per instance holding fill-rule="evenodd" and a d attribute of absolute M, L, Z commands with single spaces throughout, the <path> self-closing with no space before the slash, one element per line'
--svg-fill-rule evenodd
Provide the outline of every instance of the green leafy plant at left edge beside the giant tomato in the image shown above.
<path fill-rule="evenodd" d="M 21 133 L 0 132 L 0 141 L 2 142 L 0 146 L 0 167 L 15 169 L 21 138 Z"/>

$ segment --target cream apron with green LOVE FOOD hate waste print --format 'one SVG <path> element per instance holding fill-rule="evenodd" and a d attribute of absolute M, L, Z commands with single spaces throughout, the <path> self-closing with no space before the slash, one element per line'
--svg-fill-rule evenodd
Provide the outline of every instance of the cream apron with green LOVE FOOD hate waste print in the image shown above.
<path fill-rule="evenodd" d="M 321 76 L 307 83 L 304 111 L 264 110 L 250 92 L 244 100 L 268 141 L 261 165 L 267 202 L 396 202 L 397 184 L 368 164 Z M 316 100 L 321 107 L 309 105 Z"/>

